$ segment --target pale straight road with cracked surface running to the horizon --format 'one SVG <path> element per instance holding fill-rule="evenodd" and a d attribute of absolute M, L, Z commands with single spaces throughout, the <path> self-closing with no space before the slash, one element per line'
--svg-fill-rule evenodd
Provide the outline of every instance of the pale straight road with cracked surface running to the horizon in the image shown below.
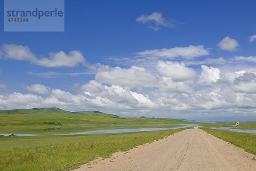
<path fill-rule="evenodd" d="M 187 129 L 75 171 L 256 171 L 255 155 L 201 129 Z"/>

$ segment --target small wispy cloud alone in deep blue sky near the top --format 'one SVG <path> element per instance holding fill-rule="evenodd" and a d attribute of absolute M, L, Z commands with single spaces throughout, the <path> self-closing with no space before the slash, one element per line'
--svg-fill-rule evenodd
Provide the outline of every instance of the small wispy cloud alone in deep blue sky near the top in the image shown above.
<path fill-rule="evenodd" d="M 160 29 L 160 26 L 175 28 L 175 21 L 167 20 L 163 17 L 161 12 L 153 12 L 150 15 L 142 14 L 140 17 L 137 17 L 137 22 L 145 23 L 154 23 L 154 26 L 150 25 L 148 28 L 157 31 Z"/>

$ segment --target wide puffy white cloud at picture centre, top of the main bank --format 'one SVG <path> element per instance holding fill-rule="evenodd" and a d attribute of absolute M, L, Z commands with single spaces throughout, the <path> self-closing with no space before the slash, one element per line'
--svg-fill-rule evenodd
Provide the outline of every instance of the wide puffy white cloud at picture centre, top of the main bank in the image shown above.
<path fill-rule="evenodd" d="M 95 80 L 123 87 L 156 87 L 159 78 L 141 67 L 132 66 L 129 69 L 123 69 L 101 66 L 95 75 Z"/>

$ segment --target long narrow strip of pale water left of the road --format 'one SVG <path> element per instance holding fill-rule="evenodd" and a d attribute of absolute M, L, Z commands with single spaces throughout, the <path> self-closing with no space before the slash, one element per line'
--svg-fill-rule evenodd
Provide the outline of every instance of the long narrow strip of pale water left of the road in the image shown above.
<path fill-rule="evenodd" d="M 180 124 L 183 125 L 183 124 Z M 67 134 L 54 134 L 54 135 L 80 135 L 80 134 L 94 134 L 94 133 L 126 133 L 126 132 L 142 132 L 142 131 L 153 131 L 153 130 L 170 130 L 170 129 L 179 129 L 179 128 L 187 128 L 187 127 L 195 127 L 196 124 L 183 125 L 180 127 L 174 128 L 137 128 L 137 129 L 112 129 L 112 130 L 93 130 L 93 131 L 85 131 L 85 132 L 74 132 Z M 10 133 L 12 134 L 12 133 Z M 0 133 L 0 135 L 8 136 L 10 134 Z M 34 134 L 22 134 L 22 133 L 13 133 L 17 136 L 39 136 Z"/>

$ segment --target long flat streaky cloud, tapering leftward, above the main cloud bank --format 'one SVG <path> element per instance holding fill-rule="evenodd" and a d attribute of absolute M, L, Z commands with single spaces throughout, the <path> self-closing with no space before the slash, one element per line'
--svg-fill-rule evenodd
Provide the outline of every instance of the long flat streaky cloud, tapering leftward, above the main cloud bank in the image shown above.
<path fill-rule="evenodd" d="M 174 59 L 177 57 L 182 57 L 186 59 L 192 59 L 199 56 L 209 55 L 209 49 L 204 49 L 203 45 L 193 46 L 189 45 L 187 47 L 175 47 L 170 49 L 154 49 L 145 50 L 143 52 L 136 53 L 143 57 L 154 57 L 154 58 L 169 58 Z"/>

